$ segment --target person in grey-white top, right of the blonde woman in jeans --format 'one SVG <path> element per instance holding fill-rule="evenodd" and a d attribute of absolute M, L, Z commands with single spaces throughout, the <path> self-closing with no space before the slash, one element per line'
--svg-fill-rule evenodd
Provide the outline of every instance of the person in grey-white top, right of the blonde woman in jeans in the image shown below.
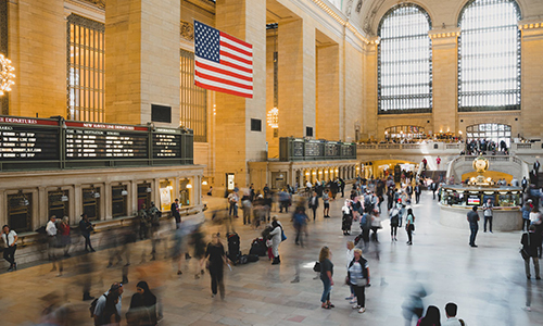
<path fill-rule="evenodd" d="M 357 309 L 358 313 L 362 314 L 366 312 L 365 289 L 369 286 L 369 265 L 368 261 L 362 256 L 362 250 L 358 248 L 354 250 L 354 258 L 349 263 L 348 280 L 356 296 L 356 304 L 353 305 L 353 309 Z"/>

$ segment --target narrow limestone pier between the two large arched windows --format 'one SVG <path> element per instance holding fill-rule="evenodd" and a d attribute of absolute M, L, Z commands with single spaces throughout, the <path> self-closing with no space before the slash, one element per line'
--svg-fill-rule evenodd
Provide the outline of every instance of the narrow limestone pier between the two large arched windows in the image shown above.
<path fill-rule="evenodd" d="M 458 28 L 429 33 L 433 57 L 433 133 L 458 131 Z"/>

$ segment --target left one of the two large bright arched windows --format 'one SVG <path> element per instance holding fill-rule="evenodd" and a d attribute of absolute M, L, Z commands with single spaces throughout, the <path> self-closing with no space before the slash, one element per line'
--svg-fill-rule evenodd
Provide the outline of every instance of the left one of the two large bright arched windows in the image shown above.
<path fill-rule="evenodd" d="M 379 23 L 379 114 L 431 112 L 432 49 L 428 13 L 400 4 Z"/>

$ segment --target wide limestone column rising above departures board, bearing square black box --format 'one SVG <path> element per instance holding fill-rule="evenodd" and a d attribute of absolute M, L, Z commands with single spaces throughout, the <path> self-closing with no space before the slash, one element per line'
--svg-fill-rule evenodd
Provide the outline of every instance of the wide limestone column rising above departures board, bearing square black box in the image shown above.
<path fill-rule="evenodd" d="M 105 120 L 151 122 L 151 104 L 172 108 L 179 126 L 178 0 L 108 0 Z"/>

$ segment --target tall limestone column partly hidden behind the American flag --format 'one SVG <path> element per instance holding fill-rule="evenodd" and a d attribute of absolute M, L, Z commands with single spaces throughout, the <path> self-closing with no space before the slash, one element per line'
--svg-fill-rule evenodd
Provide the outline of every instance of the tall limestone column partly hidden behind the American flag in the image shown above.
<path fill-rule="evenodd" d="M 265 161 L 266 153 L 266 1 L 218 0 L 216 28 L 253 46 L 253 98 L 216 92 L 216 192 L 225 190 L 225 174 L 249 181 L 248 161 Z M 262 131 L 251 131 L 251 118 Z"/>

